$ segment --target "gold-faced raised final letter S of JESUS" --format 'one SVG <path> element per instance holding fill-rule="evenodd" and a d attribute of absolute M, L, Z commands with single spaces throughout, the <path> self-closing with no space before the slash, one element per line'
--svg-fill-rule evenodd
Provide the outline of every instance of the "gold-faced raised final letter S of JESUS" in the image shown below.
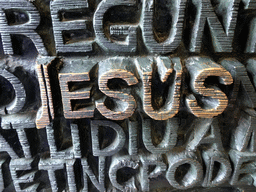
<path fill-rule="evenodd" d="M 208 58 L 191 57 L 186 60 L 193 95 L 186 97 L 186 104 L 195 116 L 212 118 L 221 114 L 228 105 L 227 96 L 216 86 L 205 85 L 207 77 L 218 77 L 224 85 L 233 83 L 232 76 L 220 65 Z M 201 101 L 201 105 L 197 101 Z"/>

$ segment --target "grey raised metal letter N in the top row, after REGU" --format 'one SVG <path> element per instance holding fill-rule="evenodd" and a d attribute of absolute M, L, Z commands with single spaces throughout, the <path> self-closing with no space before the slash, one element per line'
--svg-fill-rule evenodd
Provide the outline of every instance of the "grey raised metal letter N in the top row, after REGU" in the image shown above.
<path fill-rule="evenodd" d="M 209 25 L 214 50 L 216 52 L 232 52 L 240 0 L 221 0 L 218 2 L 215 10 L 216 15 L 210 0 L 192 1 L 196 15 L 191 30 L 189 45 L 191 52 L 200 52 L 206 22 Z M 223 24 L 220 23 L 218 17 L 222 18 Z"/>

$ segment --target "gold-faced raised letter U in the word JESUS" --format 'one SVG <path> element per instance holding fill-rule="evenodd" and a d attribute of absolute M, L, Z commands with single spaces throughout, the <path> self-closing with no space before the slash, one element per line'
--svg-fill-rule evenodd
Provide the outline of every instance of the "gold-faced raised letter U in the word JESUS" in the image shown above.
<path fill-rule="evenodd" d="M 158 57 L 157 64 L 153 62 L 153 59 L 148 58 L 136 60 L 143 82 L 143 109 L 155 120 L 167 120 L 179 110 L 182 67 L 179 58 Z"/>

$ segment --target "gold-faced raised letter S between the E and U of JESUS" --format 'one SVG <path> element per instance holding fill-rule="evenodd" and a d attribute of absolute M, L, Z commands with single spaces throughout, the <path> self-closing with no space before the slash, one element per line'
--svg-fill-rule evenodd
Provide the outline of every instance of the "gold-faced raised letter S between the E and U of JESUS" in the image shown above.
<path fill-rule="evenodd" d="M 99 63 L 99 89 L 110 97 L 115 104 L 106 106 L 106 99 L 103 98 L 102 101 L 97 101 L 96 107 L 108 119 L 123 120 L 132 116 L 135 111 L 136 102 L 130 94 L 131 89 L 126 89 L 126 92 L 111 90 L 119 90 L 120 88 L 116 87 L 128 87 L 138 83 L 130 62 L 131 60 L 124 57 L 117 57 Z M 119 80 L 119 82 L 116 80 Z M 127 85 L 122 85 L 123 82 L 121 80 L 124 80 Z M 113 88 L 110 89 L 109 85 Z"/>

